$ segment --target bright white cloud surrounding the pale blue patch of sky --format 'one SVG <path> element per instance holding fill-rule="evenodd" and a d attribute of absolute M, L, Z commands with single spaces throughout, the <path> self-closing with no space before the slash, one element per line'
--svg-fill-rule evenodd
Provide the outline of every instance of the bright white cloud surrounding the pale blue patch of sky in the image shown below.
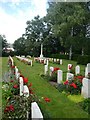
<path fill-rule="evenodd" d="M 13 1 L 12 3 L 14 3 Z M 19 2 L 20 0 L 17 1 Z M 32 5 L 34 6 L 33 9 L 30 7 L 24 11 L 19 9 L 17 14 L 12 15 L 0 7 L 0 34 L 4 34 L 8 42 L 13 43 L 25 33 L 27 20 L 33 19 L 38 14 L 41 17 L 45 16 L 46 0 L 33 0 Z"/>

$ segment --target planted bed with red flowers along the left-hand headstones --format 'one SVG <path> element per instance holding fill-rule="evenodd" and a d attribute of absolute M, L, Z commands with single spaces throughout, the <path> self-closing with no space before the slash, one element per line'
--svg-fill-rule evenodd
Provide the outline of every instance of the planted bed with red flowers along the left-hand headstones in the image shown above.
<path fill-rule="evenodd" d="M 9 60 L 10 61 L 10 60 Z M 27 97 L 27 92 L 23 91 L 22 96 L 20 95 L 20 79 L 18 80 L 15 77 L 15 66 L 9 66 L 10 71 L 10 80 L 6 83 L 3 83 L 2 90 L 3 90 L 3 99 L 6 100 L 6 105 L 3 106 L 3 119 L 27 119 L 31 118 L 31 103 L 37 102 L 42 103 L 50 102 L 51 100 L 47 97 L 45 98 L 38 98 L 35 95 L 35 92 L 32 88 L 32 83 L 28 83 L 28 78 L 24 77 L 21 72 L 20 77 L 23 79 L 23 85 L 28 87 L 29 96 Z"/>

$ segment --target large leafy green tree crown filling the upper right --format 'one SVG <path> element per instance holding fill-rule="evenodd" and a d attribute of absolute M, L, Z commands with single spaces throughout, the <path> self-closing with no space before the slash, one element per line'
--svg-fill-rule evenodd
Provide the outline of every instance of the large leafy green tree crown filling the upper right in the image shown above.
<path fill-rule="evenodd" d="M 86 34 L 90 20 L 86 3 L 49 3 L 46 17 L 52 24 L 53 34 L 60 38 L 67 52 L 74 48 L 75 53 L 78 48 L 77 36 L 80 49 L 86 49 L 84 44 L 87 41 Z"/>

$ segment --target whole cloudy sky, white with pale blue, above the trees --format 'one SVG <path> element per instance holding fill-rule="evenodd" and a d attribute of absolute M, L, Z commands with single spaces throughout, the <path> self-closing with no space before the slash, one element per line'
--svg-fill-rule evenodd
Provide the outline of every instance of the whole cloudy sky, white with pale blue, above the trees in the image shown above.
<path fill-rule="evenodd" d="M 25 33 L 26 21 L 45 16 L 46 8 L 47 0 L 0 0 L 0 34 L 13 43 Z"/>

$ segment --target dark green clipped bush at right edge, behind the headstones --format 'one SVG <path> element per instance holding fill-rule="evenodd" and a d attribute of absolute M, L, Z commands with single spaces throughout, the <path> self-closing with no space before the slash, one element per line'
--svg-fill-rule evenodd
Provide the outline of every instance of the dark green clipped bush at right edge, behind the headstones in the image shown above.
<path fill-rule="evenodd" d="M 89 62 L 90 62 L 90 56 L 89 55 L 78 56 L 78 58 L 77 58 L 77 64 L 86 65 Z"/>

